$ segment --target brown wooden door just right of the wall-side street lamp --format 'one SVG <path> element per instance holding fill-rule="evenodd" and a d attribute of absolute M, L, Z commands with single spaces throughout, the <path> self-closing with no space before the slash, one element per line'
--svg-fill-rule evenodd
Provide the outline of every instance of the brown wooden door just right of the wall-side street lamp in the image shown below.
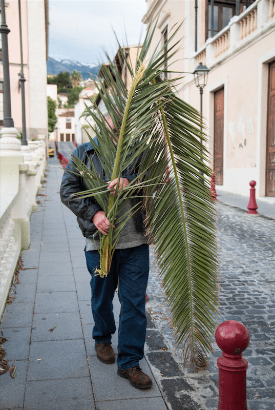
<path fill-rule="evenodd" d="M 216 184 L 223 185 L 223 116 L 224 89 L 214 94 L 214 172 Z"/>

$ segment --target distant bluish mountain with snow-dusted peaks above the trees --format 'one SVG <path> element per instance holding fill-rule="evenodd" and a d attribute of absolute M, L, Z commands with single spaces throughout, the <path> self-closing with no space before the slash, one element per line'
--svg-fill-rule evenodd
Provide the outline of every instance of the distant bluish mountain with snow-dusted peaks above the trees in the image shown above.
<path fill-rule="evenodd" d="M 47 61 L 47 73 L 56 75 L 60 71 L 69 71 L 70 74 L 74 70 L 79 71 L 82 75 L 83 80 L 87 80 L 91 78 L 90 73 L 93 77 L 96 77 L 98 71 L 100 69 L 100 65 L 89 64 L 89 63 L 80 63 L 76 60 L 69 60 L 69 59 L 55 59 L 49 57 Z"/>

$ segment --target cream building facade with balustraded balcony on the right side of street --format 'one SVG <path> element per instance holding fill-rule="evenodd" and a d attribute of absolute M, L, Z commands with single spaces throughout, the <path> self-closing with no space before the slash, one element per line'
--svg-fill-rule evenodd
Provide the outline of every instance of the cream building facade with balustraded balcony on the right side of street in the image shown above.
<path fill-rule="evenodd" d="M 202 107 L 217 186 L 247 196 L 255 180 L 257 197 L 274 202 L 274 1 L 214 1 L 213 12 L 212 20 L 210 0 L 147 0 L 142 21 L 156 23 L 151 52 L 181 23 L 170 69 L 183 77 L 179 96 L 198 110 L 193 72 L 199 63 L 210 70 Z"/>

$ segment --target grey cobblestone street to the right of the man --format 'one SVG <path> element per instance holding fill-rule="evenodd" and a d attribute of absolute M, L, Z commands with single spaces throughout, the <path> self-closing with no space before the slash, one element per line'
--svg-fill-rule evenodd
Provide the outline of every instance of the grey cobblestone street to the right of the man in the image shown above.
<path fill-rule="evenodd" d="M 248 360 L 247 406 L 249 410 L 275 409 L 275 220 L 250 216 L 243 210 L 218 204 L 217 237 L 220 254 L 220 316 L 217 323 L 237 320 L 250 335 L 243 353 Z M 162 350 L 150 347 L 149 360 L 173 410 L 218 408 L 217 358 L 215 350 L 205 371 L 188 373 L 180 363 L 181 352 L 174 352 L 170 322 L 167 317 L 160 279 L 151 255 L 151 276 L 147 288 L 152 331 Z M 217 324 L 217 325 L 218 325 Z M 163 339 L 160 339 L 163 336 Z M 158 354 L 157 354 L 158 353 Z M 160 370 L 161 361 L 164 371 Z M 177 364 L 179 364 L 177 366 Z M 157 370 L 158 369 L 158 370 Z M 187 404 L 189 403 L 189 404 Z"/>

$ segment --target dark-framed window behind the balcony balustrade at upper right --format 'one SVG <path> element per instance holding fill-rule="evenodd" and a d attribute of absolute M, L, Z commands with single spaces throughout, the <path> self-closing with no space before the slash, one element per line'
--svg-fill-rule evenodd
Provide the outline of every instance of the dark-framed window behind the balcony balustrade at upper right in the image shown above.
<path fill-rule="evenodd" d="M 240 13 L 242 13 L 254 0 L 240 0 Z M 236 0 L 214 1 L 213 8 L 213 37 L 229 24 L 230 19 L 236 13 Z M 206 38 L 211 37 L 211 1 L 208 0 L 206 10 Z"/>

